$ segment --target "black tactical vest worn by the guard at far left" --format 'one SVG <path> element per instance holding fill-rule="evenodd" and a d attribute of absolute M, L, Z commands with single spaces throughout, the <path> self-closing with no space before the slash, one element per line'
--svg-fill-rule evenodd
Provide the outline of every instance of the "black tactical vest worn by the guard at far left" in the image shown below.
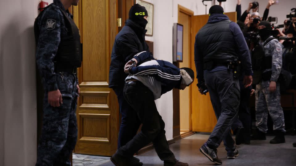
<path fill-rule="evenodd" d="M 64 16 L 64 22 L 68 33 L 66 35 L 61 34 L 60 45 L 54 58 L 55 68 L 71 69 L 80 67 L 82 62 L 82 44 L 80 43 L 79 29 L 64 10 L 60 9 L 60 11 Z M 41 17 L 42 13 L 43 12 L 41 12 L 38 17 Z M 34 31 L 37 44 L 40 32 L 36 21 Z"/>

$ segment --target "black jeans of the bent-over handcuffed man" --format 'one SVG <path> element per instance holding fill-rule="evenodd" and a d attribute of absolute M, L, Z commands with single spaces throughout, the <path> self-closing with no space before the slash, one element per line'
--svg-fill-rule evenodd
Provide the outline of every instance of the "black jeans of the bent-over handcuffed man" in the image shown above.
<path fill-rule="evenodd" d="M 118 149 L 118 153 L 129 157 L 152 142 L 161 160 L 175 163 L 177 160 L 167 143 L 165 124 L 157 111 L 153 93 L 140 81 L 125 83 L 124 93 L 126 101 L 137 112 L 143 126 L 141 132 Z"/>

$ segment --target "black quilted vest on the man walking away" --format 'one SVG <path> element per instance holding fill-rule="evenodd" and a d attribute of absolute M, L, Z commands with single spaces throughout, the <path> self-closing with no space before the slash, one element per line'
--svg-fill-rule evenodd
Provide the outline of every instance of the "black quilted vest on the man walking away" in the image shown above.
<path fill-rule="evenodd" d="M 196 38 L 203 52 L 204 63 L 227 64 L 238 57 L 233 34 L 229 28 L 230 22 L 224 20 L 208 23 L 199 30 Z"/>

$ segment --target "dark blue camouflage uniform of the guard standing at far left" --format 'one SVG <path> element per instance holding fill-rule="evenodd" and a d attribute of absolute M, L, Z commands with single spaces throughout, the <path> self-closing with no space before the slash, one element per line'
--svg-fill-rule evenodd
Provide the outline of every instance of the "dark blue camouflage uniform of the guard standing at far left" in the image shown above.
<path fill-rule="evenodd" d="M 36 50 L 36 63 L 42 78 L 45 91 L 43 128 L 40 138 L 36 166 L 70 166 L 69 156 L 77 140 L 77 84 L 76 73 L 56 72 L 54 57 L 57 53 L 61 35 L 67 35 L 64 16 L 65 10 L 60 0 L 45 9 L 36 20 L 40 36 Z M 68 12 L 69 17 L 72 15 Z M 48 103 L 48 92 L 59 89 L 63 104 L 52 107 Z"/>

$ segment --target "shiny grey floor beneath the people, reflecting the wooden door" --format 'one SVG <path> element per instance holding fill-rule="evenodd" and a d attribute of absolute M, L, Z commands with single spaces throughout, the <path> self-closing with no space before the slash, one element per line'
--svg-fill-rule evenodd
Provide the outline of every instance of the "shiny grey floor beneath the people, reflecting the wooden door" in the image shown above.
<path fill-rule="evenodd" d="M 209 135 L 194 134 L 170 145 L 170 149 L 174 152 L 177 160 L 187 162 L 190 166 L 198 165 L 215 165 L 207 157 L 199 152 L 199 148 L 208 139 Z M 296 148 L 292 147 L 292 143 L 296 142 L 296 136 L 286 136 L 284 144 L 269 144 L 273 136 L 267 136 L 264 141 L 251 141 L 250 145 L 238 145 L 240 155 L 234 159 L 227 159 L 226 151 L 223 143 L 218 148 L 218 156 L 222 160 L 222 165 L 239 165 L 239 166 L 295 166 L 296 164 Z M 114 166 L 109 157 L 76 155 L 81 166 Z M 86 158 L 85 158 L 86 157 Z M 156 152 L 151 150 L 142 155 L 137 156 L 143 166 L 163 166 L 163 162 L 158 158 Z M 84 159 L 82 159 L 84 158 Z M 91 159 L 87 160 L 87 159 Z M 95 161 L 98 160 L 98 161 Z M 77 161 L 77 158 L 74 159 Z M 85 161 L 85 162 L 83 162 Z M 87 163 L 91 164 L 87 164 Z M 97 163 L 96 163 L 97 162 Z"/>

